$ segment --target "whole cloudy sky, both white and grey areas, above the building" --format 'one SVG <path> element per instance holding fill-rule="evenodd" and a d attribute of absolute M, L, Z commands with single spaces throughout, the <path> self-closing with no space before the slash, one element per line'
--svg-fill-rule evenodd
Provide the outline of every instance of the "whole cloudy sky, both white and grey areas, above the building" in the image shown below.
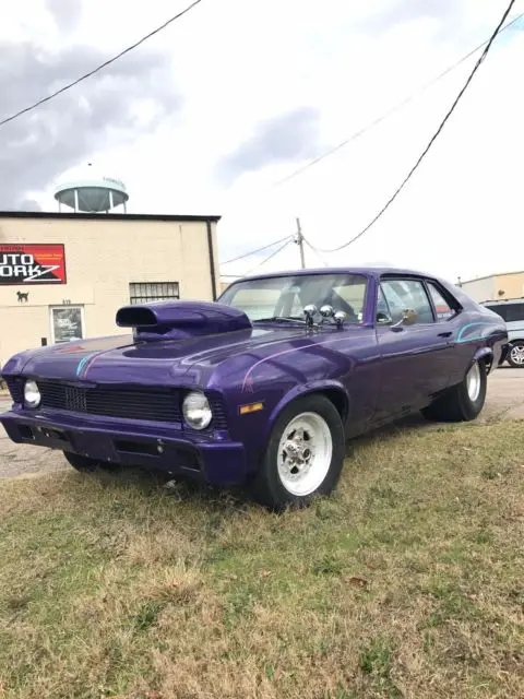
<path fill-rule="evenodd" d="M 189 0 L 23 0 L 0 25 L 0 119 Z M 508 0 L 202 0 L 98 75 L 0 129 L 0 209 L 56 209 L 92 162 L 130 211 L 222 214 L 221 259 L 291 234 L 356 235 L 405 177 Z M 517 0 L 512 17 L 524 12 Z M 424 165 L 358 242 L 308 265 L 391 263 L 451 280 L 524 269 L 524 21 L 502 34 Z M 312 159 L 412 95 L 317 165 Z M 267 252 L 271 252 L 269 250 Z M 223 268 L 251 270 L 267 253 Z M 293 268 L 290 245 L 262 270 Z"/>

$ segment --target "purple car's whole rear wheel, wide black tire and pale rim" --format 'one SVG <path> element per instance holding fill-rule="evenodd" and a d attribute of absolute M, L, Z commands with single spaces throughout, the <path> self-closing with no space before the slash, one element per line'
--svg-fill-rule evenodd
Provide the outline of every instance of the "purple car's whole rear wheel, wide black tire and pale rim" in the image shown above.
<path fill-rule="evenodd" d="M 426 419 L 440 423 L 475 419 L 486 403 L 487 386 L 486 364 L 475 360 L 461 383 L 425 407 L 421 413 Z"/>

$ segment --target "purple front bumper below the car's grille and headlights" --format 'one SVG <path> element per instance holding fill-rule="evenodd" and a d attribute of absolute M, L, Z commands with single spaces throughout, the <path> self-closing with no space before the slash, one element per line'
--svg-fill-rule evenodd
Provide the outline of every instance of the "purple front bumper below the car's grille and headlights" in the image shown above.
<path fill-rule="evenodd" d="M 243 445 L 225 433 L 189 434 L 165 423 L 33 412 L 17 404 L 0 415 L 0 423 L 16 443 L 71 451 L 109 464 L 162 470 L 213 485 L 240 484 L 247 475 Z"/>

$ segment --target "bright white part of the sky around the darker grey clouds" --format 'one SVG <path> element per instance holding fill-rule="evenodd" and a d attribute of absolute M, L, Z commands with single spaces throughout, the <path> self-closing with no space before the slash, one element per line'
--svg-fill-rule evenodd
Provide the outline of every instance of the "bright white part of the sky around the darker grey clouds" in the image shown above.
<path fill-rule="evenodd" d="M 11 28 L 25 35 L 41 29 L 49 44 L 82 40 L 111 55 L 187 0 L 132 7 L 123 0 L 84 1 L 80 20 L 64 17 L 67 35 L 63 26 L 57 35 L 44 4 L 32 20 L 13 10 Z M 303 161 L 269 163 L 229 188 L 217 179 L 217 164 L 248 142 L 259 123 L 300 109 L 320 117 L 312 151 L 336 144 L 487 38 L 505 5 L 507 0 L 204 0 L 146 45 L 170 63 L 181 109 L 157 120 L 154 105 L 144 106 L 140 138 L 115 149 L 104 143 L 91 159 L 124 179 L 131 211 L 223 213 L 222 259 L 293 233 L 297 215 L 312 244 L 334 247 L 358 233 L 392 194 L 475 59 L 281 187 L 271 185 Z M 523 1 L 515 4 L 514 13 L 520 11 Z M 405 191 L 361 240 L 323 256 L 330 263 L 389 261 L 453 280 L 524 268 L 523 54 L 523 35 L 507 32 Z M 166 85 L 144 79 L 144 97 L 160 87 Z M 83 88 L 75 90 L 80 99 Z M 51 185 L 43 182 L 47 193 L 39 198 L 47 206 L 55 205 Z M 308 263 L 321 264 L 310 250 L 306 254 Z M 255 261 L 224 272 L 243 272 Z M 297 263 L 296 246 L 289 246 L 263 269 Z"/>

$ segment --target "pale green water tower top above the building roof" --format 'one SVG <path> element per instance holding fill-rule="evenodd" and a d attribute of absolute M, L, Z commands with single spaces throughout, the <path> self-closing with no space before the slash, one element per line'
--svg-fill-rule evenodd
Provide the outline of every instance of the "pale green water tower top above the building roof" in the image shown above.
<path fill-rule="evenodd" d="M 55 189 L 55 199 L 59 211 L 62 211 L 64 204 L 75 213 L 108 214 L 116 206 L 122 206 L 127 213 L 129 194 L 122 181 L 97 176 L 90 163 L 87 169 L 75 174 L 71 180 Z"/>

